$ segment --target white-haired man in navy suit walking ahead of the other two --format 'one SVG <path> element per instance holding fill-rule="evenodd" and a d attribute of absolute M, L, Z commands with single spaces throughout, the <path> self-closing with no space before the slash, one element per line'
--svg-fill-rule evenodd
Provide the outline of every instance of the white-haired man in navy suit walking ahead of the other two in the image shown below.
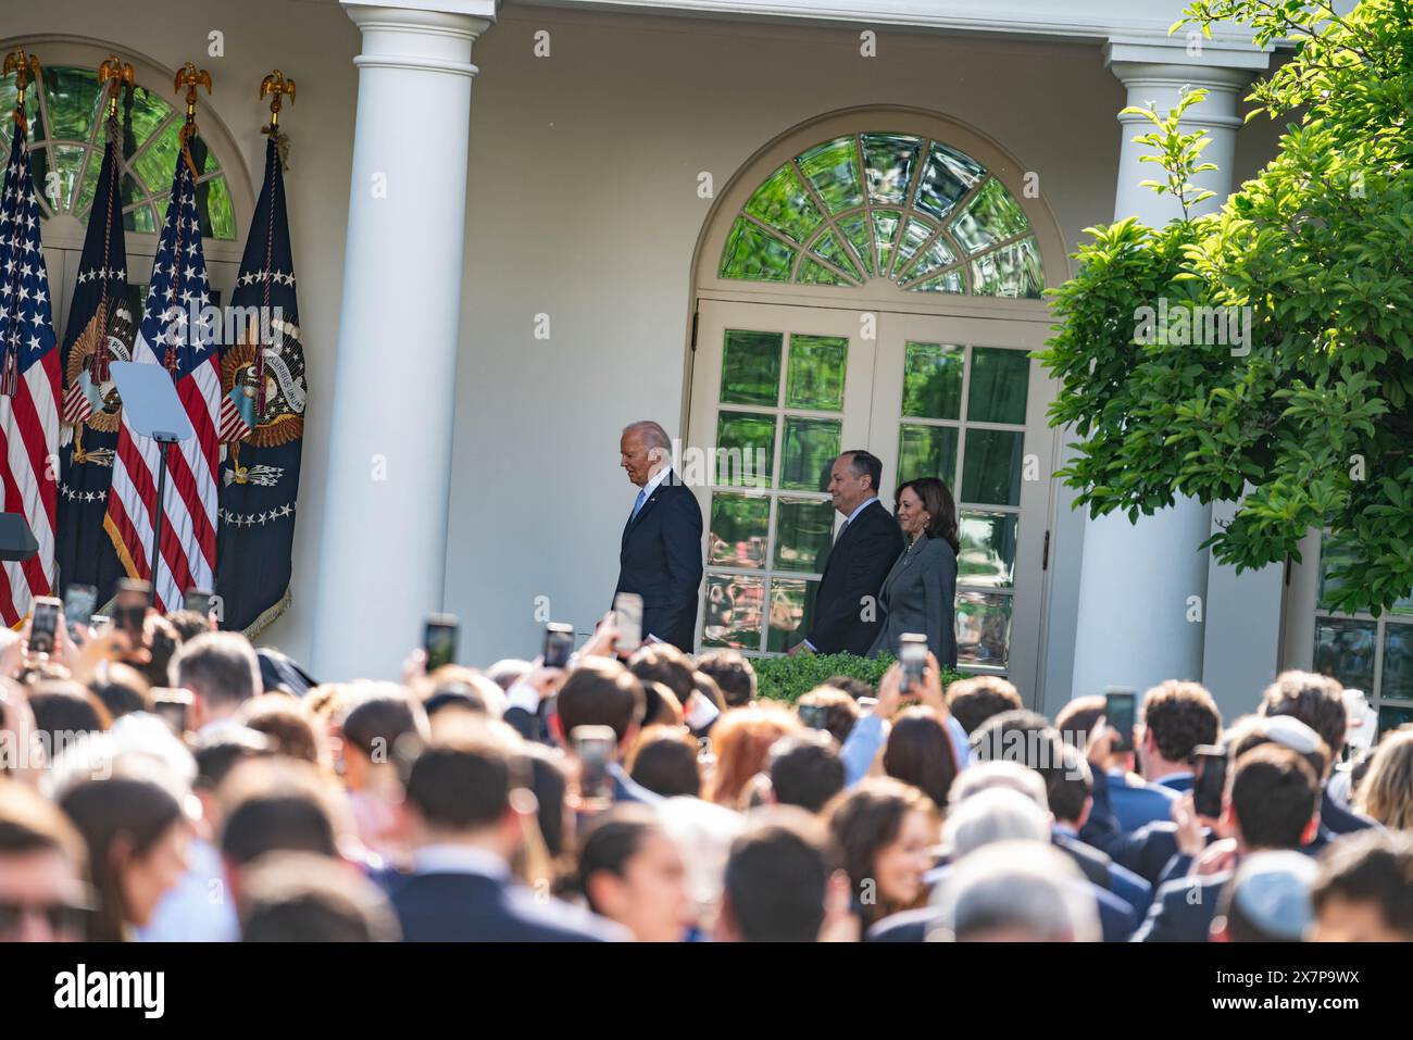
<path fill-rule="evenodd" d="M 671 466 L 673 442 L 657 422 L 633 422 L 619 465 L 639 492 L 619 545 L 617 592 L 643 598 L 643 639 L 685 653 L 697 639 L 702 581 L 702 510 Z"/>

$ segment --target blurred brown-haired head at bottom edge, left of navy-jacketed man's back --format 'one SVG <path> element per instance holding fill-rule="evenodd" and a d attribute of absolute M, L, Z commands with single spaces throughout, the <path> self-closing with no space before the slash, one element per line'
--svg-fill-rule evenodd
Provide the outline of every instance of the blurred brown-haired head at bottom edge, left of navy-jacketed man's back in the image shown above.
<path fill-rule="evenodd" d="M 271 852 L 244 878 L 244 942 L 396 942 L 387 897 L 350 863 Z"/>

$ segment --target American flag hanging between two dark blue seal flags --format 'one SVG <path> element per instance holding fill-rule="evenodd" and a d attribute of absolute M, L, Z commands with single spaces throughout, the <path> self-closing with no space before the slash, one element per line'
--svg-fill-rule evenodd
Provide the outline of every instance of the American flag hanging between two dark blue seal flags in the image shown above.
<path fill-rule="evenodd" d="M 138 437 L 127 408 L 117 434 L 113 489 L 103 526 L 127 574 L 153 582 L 160 610 L 175 610 L 191 588 L 212 586 L 216 565 L 216 466 L 220 413 L 220 369 L 215 329 L 192 309 L 211 304 L 206 261 L 196 219 L 196 181 L 184 147 L 177 155 L 172 192 L 153 260 L 143 324 L 133 343 L 133 360 L 162 365 L 177 384 L 194 438 L 161 447 Z M 161 561 L 155 577 L 148 554 L 157 509 L 157 452 L 167 451 L 167 492 L 162 497 Z"/>

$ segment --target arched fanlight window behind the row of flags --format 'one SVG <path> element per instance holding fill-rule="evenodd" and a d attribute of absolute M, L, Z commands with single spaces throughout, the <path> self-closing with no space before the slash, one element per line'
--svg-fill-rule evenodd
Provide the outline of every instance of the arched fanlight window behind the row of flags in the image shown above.
<path fill-rule="evenodd" d="M 14 112 L 13 78 L 0 83 L 0 162 L 10 153 Z M 30 157 L 42 216 L 72 213 L 88 220 L 97 175 L 103 165 L 107 112 L 102 83 L 93 69 L 47 65 L 25 96 Z M 117 123 L 123 133 L 123 226 L 155 235 L 171 192 L 172 170 L 181 148 L 184 113 L 143 86 L 123 88 Z M 230 189 L 216 157 L 196 137 L 192 141 L 196 178 L 196 218 L 208 239 L 236 237 Z"/>

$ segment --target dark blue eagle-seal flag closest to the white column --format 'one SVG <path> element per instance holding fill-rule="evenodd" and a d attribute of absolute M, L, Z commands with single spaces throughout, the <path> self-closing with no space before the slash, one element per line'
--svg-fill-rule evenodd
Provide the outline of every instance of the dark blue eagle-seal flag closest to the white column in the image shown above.
<path fill-rule="evenodd" d="M 295 300 L 280 136 L 266 146 L 264 184 L 232 295 L 240 338 L 222 348 L 222 627 L 253 636 L 290 603 L 294 500 L 304 449 L 304 348 Z"/>

